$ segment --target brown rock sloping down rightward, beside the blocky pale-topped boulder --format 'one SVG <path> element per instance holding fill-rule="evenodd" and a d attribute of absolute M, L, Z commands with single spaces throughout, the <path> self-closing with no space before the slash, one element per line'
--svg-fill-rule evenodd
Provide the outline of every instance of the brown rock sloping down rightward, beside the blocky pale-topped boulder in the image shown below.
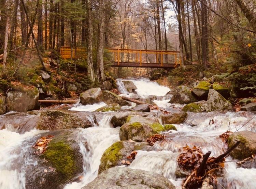
<path fill-rule="evenodd" d="M 130 103 L 123 100 L 122 97 L 118 96 L 115 93 L 112 93 L 110 91 L 102 91 L 103 93 L 103 100 L 106 104 L 119 104 L 120 106 L 129 106 Z"/>

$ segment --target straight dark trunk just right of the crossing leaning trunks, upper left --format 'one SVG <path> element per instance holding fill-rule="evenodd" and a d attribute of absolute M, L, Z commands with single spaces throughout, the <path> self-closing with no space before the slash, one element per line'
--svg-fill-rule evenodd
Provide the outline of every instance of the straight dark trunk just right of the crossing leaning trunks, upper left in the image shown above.
<path fill-rule="evenodd" d="M 40 49 L 40 51 L 43 51 L 43 7 L 42 7 L 42 1 L 40 1 L 39 5 L 38 5 L 37 20 L 38 20 L 37 43 L 38 43 L 38 48 Z"/>

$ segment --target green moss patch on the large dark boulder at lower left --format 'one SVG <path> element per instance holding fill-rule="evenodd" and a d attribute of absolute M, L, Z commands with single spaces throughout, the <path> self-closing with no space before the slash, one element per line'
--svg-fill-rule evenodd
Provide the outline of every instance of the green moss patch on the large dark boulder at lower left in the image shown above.
<path fill-rule="evenodd" d="M 50 142 L 42 156 L 65 178 L 72 177 L 76 171 L 74 151 L 64 141 Z"/>

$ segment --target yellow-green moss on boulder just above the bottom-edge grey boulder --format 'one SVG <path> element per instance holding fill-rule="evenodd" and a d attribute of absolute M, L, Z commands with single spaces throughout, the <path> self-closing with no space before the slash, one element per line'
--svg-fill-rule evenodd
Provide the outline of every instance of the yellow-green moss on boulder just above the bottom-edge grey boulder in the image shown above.
<path fill-rule="evenodd" d="M 120 150 L 122 148 L 124 148 L 123 142 L 118 141 L 105 150 L 100 159 L 101 163 L 98 174 L 100 174 L 104 170 L 118 165 L 118 161 L 123 158 L 122 154 L 120 153 Z"/>

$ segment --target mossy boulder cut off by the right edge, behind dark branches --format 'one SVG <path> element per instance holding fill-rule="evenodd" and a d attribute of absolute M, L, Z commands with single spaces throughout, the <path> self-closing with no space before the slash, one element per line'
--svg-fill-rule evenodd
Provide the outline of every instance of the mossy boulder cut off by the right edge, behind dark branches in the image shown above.
<path fill-rule="evenodd" d="M 241 141 L 241 143 L 230 153 L 234 159 L 243 160 L 256 154 L 256 132 L 234 132 L 228 139 L 228 147 L 230 148 L 237 141 Z"/>

